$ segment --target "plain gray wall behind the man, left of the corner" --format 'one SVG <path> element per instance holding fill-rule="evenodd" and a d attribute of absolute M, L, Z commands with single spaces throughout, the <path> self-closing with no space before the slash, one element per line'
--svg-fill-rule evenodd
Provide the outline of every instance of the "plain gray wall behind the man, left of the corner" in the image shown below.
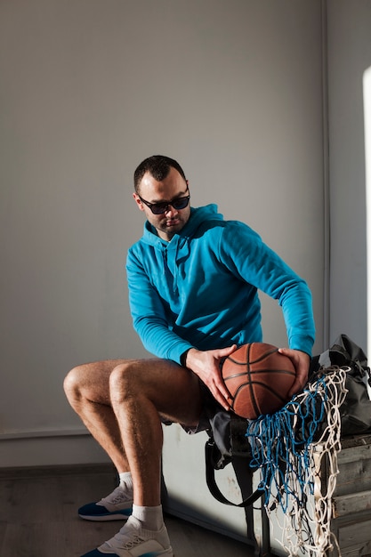
<path fill-rule="evenodd" d="M 321 36 L 319 0 L 0 3 L 2 465 L 106 458 L 62 381 L 145 355 L 124 265 L 151 154 L 179 158 L 193 205 L 248 222 L 307 279 L 322 349 Z M 286 344 L 264 298 L 263 324 Z"/>

